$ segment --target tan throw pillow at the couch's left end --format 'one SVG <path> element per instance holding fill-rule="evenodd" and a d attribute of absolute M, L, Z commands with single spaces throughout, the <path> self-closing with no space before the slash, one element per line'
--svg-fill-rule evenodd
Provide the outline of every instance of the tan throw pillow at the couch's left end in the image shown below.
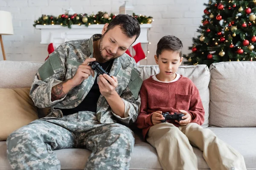
<path fill-rule="evenodd" d="M 38 119 L 29 91 L 30 88 L 0 88 L 0 141 L 6 140 L 14 130 Z"/>

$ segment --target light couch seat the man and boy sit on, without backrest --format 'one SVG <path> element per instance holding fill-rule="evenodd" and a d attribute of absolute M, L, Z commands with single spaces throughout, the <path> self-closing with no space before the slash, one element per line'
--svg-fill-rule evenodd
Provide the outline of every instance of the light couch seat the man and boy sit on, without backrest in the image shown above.
<path fill-rule="evenodd" d="M 256 170 L 256 127 L 208 127 L 219 139 L 238 150 L 243 156 L 247 169 Z M 207 170 L 203 153 L 193 147 L 198 159 L 198 169 Z M 90 151 L 85 149 L 55 150 L 61 161 L 62 170 L 83 170 Z M 160 170 L 156 150 L 150 144 L 142 142 L 135 135 L 135 145 L 131 156 L 130 170 Z M 6 158 L 6 142 L 0 142 L 0 170 L 11 170 Z"/>

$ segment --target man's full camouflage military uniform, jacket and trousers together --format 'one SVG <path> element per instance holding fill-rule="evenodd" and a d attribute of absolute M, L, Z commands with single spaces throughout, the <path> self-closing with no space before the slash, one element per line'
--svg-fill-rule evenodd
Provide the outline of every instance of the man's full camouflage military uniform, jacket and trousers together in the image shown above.
<path fill-rule="evenodd" d="M 75 108 L 83 101 L 95 81 L 96 71 L 94 77 L 85 79 L 62 99 L 51 101 L 52 87 L 72 78 L 78 66 L 93 57 L 93 41 L 100 37 L 101 34 L 95 34 L 89 40 L 65 42 L 38 69 L 30 96 L 38 108 L 51 107 L 51 111 L 7 139 L 7 156 L 13 169 L 60 169 L 52 150 L 73 147 L 92 151 L 85 170 L 128 169 L 134 146 L 134 134 L 128 126 L 137 119 L 143 82 L 134 59 L 123 54 L 114 59 L 110 71 L 118 80 L 116 92 L 125 104 L 124 118 L 113 113 L 102 95 L 96 113 L 79 111 L 63 116 L 60 108 Z"/>

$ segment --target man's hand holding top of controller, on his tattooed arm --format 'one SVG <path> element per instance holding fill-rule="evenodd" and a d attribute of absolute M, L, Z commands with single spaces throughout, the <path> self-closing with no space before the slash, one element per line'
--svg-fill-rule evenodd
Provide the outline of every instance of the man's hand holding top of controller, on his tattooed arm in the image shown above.
<path fill-rule="evenodd" d="M 95 61 L 95 58 L 88 58 L 85 59 L 85 61 L 79 65 L 76 74 L 74 77 L 72 77 L 70 82 L 72 83 L 73 88 L 80 85 L 81 82 L 83 82 L 85 79 L 90 77 L 90 75 L 93 75 L 94 77 L 94 71 L 91 68 L 90 65 L 88 65 L 90 62 Z"/>

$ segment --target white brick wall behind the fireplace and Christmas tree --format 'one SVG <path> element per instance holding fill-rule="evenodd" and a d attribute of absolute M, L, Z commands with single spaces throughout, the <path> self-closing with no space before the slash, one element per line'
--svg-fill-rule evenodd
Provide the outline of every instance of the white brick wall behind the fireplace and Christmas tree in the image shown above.
<path fill-rule="evenodd" d="M 164 35 L 175 35 L 182 40 L 183 53 L 189 53 L 192 37 L 201 24 L 203 3 L 208 0 L 129 0 L 136 14 L 154 17 L 148 33 L 150 53 L 140 64 L 155 64 L 154 53 L 158 40 Z M 107 11 L 119 13 L 123 0 L 0 0 L 0 10 L 10 11 L 13 18 L 14 35 L 3 36 L 8 60 L 43 62 L 47 57 L 47 45 L 40 44 L 41 32 L 32 25 L 41 14 L 59 15 L 71 7 L 77 13 Z M 146 52 L 146 45 L 143 45 Z M 0 51 L 0 60 L 3 60 Z"/>

